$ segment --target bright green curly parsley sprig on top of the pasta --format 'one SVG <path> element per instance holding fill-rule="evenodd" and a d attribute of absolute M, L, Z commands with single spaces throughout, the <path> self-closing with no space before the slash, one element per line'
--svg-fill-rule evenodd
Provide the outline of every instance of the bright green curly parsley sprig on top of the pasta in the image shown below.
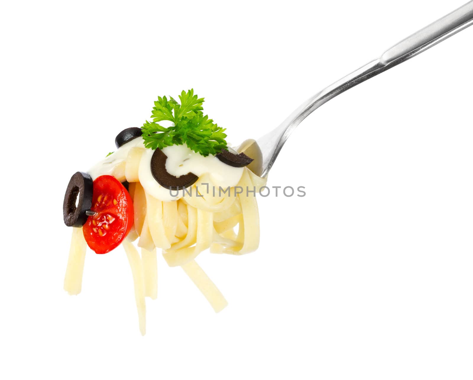
<path fill-rule="evenodd" d="M 194 95 L 194 90 L 191 89 L 187 92 L 183 90 L 179 100 L 181 103 L 172 97 L 167 100 L 166 96 L 158 96 L 152 110 L 153 121 L 146 120 L 142 127 L 145 146 L 154 150 L 185 143 L 203 156 L 227 149 L 225 128 L 214 124 L 213 120 L 202 112 L 204 98 Z M 158 123 L 162 120 L 172 121 L 174 126 L 160 126 Z"/>

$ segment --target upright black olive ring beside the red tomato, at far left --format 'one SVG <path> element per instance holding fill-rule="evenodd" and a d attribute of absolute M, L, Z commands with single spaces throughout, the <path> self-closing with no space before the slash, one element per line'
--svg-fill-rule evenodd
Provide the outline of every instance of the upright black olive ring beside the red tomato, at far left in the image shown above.
<path fill-rule="evenodd" d="M 93 181 L 87 173 L 77 172 L 70 177 L 62 203 L 66 226 L 81 227 L 86 223 L 86 211 L 92 207 L 92 189 Z"/>

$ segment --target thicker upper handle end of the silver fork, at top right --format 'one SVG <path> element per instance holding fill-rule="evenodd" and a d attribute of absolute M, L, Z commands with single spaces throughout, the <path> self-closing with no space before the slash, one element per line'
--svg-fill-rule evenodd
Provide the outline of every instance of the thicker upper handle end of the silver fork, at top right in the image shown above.
<path fill-rule="evenodd" d="M 473 19 L 473 1 L 470 1 L 432 24 L 420 29 L 391 47 L 381 56 L 381 63 L 389 64 L 409 55 L 409 58 L 432 47 L 445 38 L 468 27 Z"/>

